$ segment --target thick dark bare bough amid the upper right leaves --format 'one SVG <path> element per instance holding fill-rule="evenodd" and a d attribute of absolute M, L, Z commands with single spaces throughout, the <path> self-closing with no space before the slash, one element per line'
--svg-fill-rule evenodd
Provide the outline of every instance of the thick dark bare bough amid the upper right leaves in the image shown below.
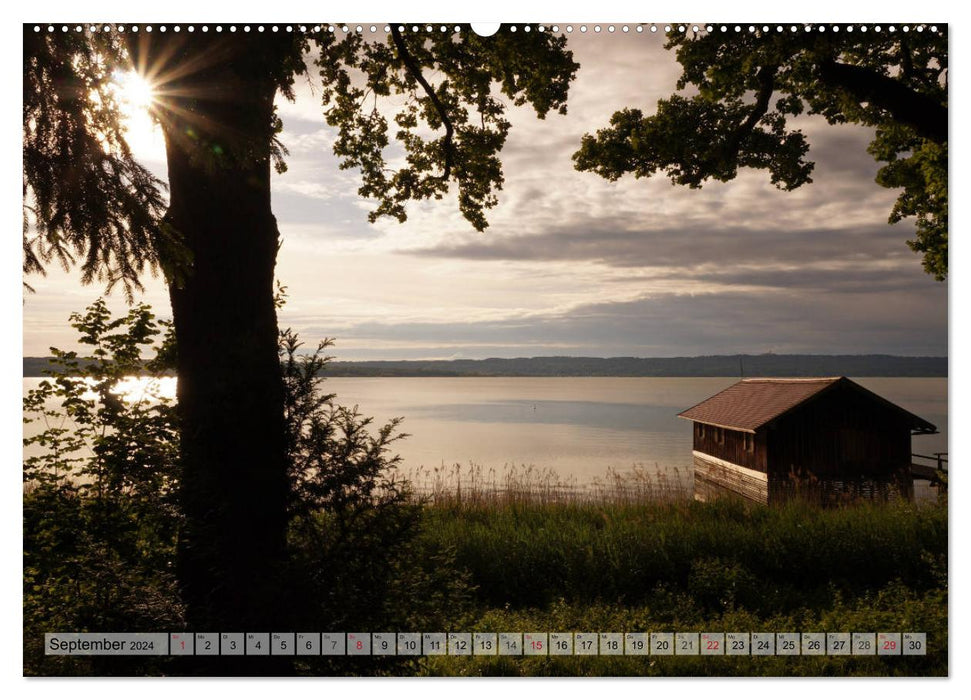
<path fill-rule="evenodd" d="M 819 63 L 819 75 L 855 100 L 884 109 L 894 121 L 934 143 L 947 143 L 947 107 L 886 75 L 834 60 Z"/>

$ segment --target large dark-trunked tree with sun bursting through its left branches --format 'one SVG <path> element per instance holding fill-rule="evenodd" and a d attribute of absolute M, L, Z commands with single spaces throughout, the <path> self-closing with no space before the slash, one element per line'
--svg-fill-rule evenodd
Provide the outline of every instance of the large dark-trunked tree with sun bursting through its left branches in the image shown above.
<path fill-rule="evenodd" d="M 529 103 L 540 118 L 565 112 L 577 65 L 565 39 L 538 31 L 483 38 L 468 27 L 394 26 L 375 40 L 340 24 L 40 29 L 24 28 L 24 272 L 79 262 L 85 282 L 129 294 L 146 272 L 164 273 L 188 622 L 278 629 L 288 621 L 274 585 L 287 491 L 270 201 L 285 155 L 276 96 L 292 98 L 298 76 L 319 74 L 334 151 L 376 200 L 372 220 L 404 220 L 408 201 L 452 189 L 481 230 L 503 183 L 506 101 Z M 125 141 L 113 82 L 127 68 L 157 94 L 167 201 Z M 390 169 L 387 155 L 404 165 Z"/>

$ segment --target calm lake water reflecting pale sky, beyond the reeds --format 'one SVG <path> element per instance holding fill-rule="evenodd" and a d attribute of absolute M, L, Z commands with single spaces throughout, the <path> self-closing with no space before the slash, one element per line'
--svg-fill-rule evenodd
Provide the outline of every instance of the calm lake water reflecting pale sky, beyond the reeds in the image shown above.
<path fill-rule="evenodd" d="M 24 390 L 40 379 L 25 378 Z M 677 417 L 736 382 L 725 377 L 339 377 L 324 388 L 376 425 L 404 417 L 406 473 L 474 465 L 553 474 L 576 484 L 610 470 L 655 470 L 691 483 L 691 424 Z M 861 378 L 859 384 L 937 426 L 913 451 L 947 451 L 946 378 Z M 545 477 L 544 477 L 545 478 Z"/>

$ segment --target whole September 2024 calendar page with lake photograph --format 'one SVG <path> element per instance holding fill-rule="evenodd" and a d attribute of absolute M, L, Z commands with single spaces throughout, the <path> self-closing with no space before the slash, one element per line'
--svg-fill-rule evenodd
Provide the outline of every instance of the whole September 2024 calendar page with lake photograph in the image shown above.
<path fill-rule="evenodd" d="M 24 20 L 25 676 L 949 675 L 946 22 L 280 10 Z"/>

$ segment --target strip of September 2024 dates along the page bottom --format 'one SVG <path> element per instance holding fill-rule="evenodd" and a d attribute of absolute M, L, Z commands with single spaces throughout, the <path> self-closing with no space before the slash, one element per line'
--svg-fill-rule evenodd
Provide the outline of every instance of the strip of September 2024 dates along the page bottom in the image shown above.
<path fill-rule="evenodd" d="M 47 633 L 48 655 L 924 656 L 923 632 Z"/>

